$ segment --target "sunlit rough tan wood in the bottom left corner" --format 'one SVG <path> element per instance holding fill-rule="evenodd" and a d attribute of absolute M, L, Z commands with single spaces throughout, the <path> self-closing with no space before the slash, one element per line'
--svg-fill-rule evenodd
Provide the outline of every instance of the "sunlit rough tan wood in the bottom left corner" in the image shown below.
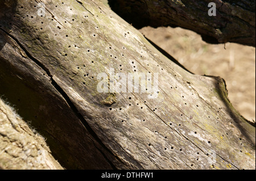
<path fill-rule="evenodd" d="M 63 169 L 46 142 L 0 99 L 0 169 Z"/>

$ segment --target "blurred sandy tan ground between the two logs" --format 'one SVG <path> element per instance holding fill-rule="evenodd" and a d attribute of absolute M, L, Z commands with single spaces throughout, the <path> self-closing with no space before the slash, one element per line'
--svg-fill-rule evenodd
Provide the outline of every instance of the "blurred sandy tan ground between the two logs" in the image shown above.
<path fill-rule="evenodd" d="M 197 33 L 182 28 L 140 30 L 189 71 L 225 79 L 229 99 L 247 120 L 255 120 L 255 48 L 227 43 L 205 43 Z"/>

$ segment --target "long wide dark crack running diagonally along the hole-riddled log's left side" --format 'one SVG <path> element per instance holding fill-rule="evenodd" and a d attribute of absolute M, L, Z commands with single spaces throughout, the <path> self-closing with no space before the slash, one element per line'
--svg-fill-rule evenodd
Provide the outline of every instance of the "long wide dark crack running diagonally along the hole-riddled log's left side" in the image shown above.
<path fill-rule="evenodd" d="M 123 163 L 121 161 L 120 158 L 118 158 L 116 155 L 114 155 L 112 153 L 112 151 L 110 151 L 105 145 L 104 143 L 100 140 L 100 138 L 97 136 L 97 134 L 93 131 L 93 129 L 90 127 L 90 125 L 88 124 L 88 122 L 84 119 L 84 117 L 81 115 L 81 113 L 77 110 L 75 104 L 73 104 L 72 100 L 69 98 L 69 96 L 67 95 L 67 93 L 61 89 L 61 87 L 57 84 L 57 82 L 53 79 L 53 76 L 51 74 L 51 72 L 49 71 L 48 68 L 46 68 L 46 66 L 44 66 L 39 60 L 37 60 L 35 57 L 33 57 L 28 50 L 26 50 L 26 48 L 23 47 L 23 45 L 18 41 L 18 39 L 16 39 L 13 35 L 11 35 L 10 33 L 6 32 L 5 30 L 3 30 L 2 28 L 0 28 L 0 30 L 2 30 L 3 32 L 5 32 L 9 37 L 11 37 L 11 39 L 13 39 L 18 45 L 19 47 L 26 53 L 26 55 L 35 62 L 36 65 L 38 65 L 40 68 L 42 68 L 44 71 L 46 71 L 47 75 L 51 78 L 51 84 L 53 87 L 55 87 L 55 89 L 60 93 L 61 96 L 63 96 L 64 100 L 67 102 L 68 106 L 71 108 L 71 110 L 73 111 L 73 113 L 75 113 L 75 115 L 78 117 L 78 119 L 81 121 L 81 123 L 84 125 L 84 127 L 87 129 L 87 131 L 92 135 L 92 137 L 102 146 L 102 148 L 104 148 L 106 151 L 108 151 L 108 153 L 110 155 L 112 155 L 114 158 L 116 158 L 119 162 Z M 104 158 L 106 158 L 106 155 L 101 151 L 101 154 L 104 156 Z M 114 170 L 117 170 L 117 168 L 114 166 L 114 164 L 112 162 L 109 161 L 109 159 L 107 160 L 109 162 L 109 164 L 111 166 L 113 166 Z M 123 163 L 123 165 L 125 165 L 125 163 Z"/>

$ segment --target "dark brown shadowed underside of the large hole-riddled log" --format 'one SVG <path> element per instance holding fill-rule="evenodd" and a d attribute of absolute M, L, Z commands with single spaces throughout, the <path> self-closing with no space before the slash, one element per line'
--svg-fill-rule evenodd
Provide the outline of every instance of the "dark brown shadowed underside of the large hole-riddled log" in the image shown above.
<path fill-rule="evenodd" d="M 0 30 L 0 39 L 4 39 L 2 35 Z M 9 43 L 7 39 L 10 47 Z M 14 107 L 30 128 L 47 138 L 53 157 L 65 169 L 113 169 L 44 71 L 40 73 L 30 59 L 24 61 L 7 50 L 5 47 L 2 52 L 8 59 L 0 56 L 0 98 Z"/>

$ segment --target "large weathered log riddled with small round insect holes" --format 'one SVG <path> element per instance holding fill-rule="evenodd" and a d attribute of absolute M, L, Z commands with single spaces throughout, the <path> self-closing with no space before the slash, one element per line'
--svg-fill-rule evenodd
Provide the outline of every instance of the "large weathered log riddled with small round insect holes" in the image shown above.
<path fill-rule="evenodd" d="M 0 95 L 65 168 L 255 169 L 255 127 L 224 80 L 176 65 L 101 2 L 1 1 L 0 10 Z M 110 68 L 159 73 L 158 98 L 98 92 Z"/>

